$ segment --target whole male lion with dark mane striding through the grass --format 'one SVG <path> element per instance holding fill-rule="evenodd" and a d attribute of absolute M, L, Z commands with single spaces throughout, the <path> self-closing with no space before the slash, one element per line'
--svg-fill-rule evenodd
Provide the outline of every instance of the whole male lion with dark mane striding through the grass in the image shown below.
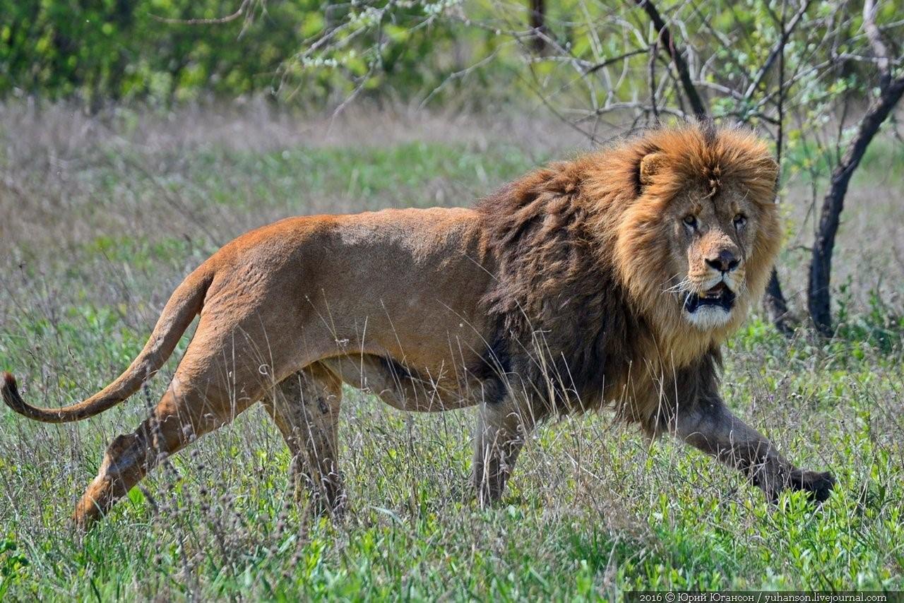
<path fill-rule="evenodd" d="M 720 344 L 762 294 L 781 239 L 777 165 L 738 129 L 659 129 L 524 176 L 473 209 L 289 218 L 213 254 L 144 350 L 48 422 L 126 400 L 201 319 L 163 399 L 110 444 L 75 510 L 106 513 L 165 455 L 262 400 L 315 503 L 344 508 L 342 383 L 404 410 L 479 405 L 479 504 L 502 495 L 538 421 L 608 406 L 743 471 L 775 500 L 828 473 L 781 457 L 720 400 Z"/>

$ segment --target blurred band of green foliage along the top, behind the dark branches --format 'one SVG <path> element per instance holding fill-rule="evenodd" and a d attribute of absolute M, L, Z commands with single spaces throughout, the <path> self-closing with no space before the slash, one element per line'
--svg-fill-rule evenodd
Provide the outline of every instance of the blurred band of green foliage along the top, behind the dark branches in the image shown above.
<path fill-rule="evenodd" d="M 659 4 L 716 116 L 756 121 L 769 112 L 777 66 L 753 94 L 747 89 L 780 40 L 781 23 L 802 5 Z M 902 33 L 894 4 L 880 3 L 876 18 L 889 40 Z M 0 14 L 0 96 L 92 106 L 255 93 L 296 102 L 362 93 L 435 99 L 466 84 L 472 100 L 539 93 L 563 110 L 583 109 L 585 118 L 614 102 L 650 104 L 655 33 L 630 2 L 549 3 L 540 50 L 528 3 L 499 0 L 0 0 Z M 806 3 L 785 52 L 786 96 L 809 109 L 803 119 L 819 119 L 840 96 L 868 93 L 867 45 L 862 0 Z M 673 74 L 659 50 L 656 100 L 666 112 L 683 112 L 680 94 L 665 85 Z"/>

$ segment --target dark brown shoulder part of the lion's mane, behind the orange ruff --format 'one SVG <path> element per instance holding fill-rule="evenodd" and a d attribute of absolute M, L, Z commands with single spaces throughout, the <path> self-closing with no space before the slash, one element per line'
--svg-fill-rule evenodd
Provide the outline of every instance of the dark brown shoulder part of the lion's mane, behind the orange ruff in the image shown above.
<path fill-rule="evenodd" d="M 614 384 L 606 376 L 634 355 L 628 334 L 643 330 L 616 271 L 598 261 L 581 177 L 579 165 L 552 165 L 477 208 L 497 266 L 482 300 L 497 325 L 490 360 L 559 411 L 598 408 Z"/>

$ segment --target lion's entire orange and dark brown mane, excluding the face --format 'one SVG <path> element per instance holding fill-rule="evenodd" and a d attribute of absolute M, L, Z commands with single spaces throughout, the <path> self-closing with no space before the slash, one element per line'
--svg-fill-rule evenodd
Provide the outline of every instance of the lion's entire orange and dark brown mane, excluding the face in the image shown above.
<path fill-rule="evenodd" d="M 655 184 L 641 160 L 662 157 Z M 722 340 L 766 285 L 777 254 L 777 217 L 764 222 L 747 259 L 748 295 L 734 319 L 701 332 L 663 297 L 668 241 L 664 207 L 686 186 L 718 193 L 741 185 L 774 203 L 777 166 L 767 147 L 740 129 L 709 124 L 660 129 L 597 153 L 539 169 L 482 200 L 495 286 L 483 298 L 496 334 L 487 363 L 518 375 L 523 391 L 554 412 L 621 405 L 646 421 L 656 400 L 636 400 L 632 382 L 655 379 L 678 395 L 713 387 Z M 764 212 L 774 216 L 776 212 Z"/>

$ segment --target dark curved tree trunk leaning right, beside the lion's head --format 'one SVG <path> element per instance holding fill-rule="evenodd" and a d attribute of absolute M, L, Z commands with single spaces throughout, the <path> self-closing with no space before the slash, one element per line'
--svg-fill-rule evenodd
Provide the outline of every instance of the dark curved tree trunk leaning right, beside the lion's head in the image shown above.
<path fill-rule="evenodd" d="M 902 94 L 904 94 L 904 77 L 891 80 L 887 86 L 882 88 L 879 98 L 870 103 L 870 108 L 867 109 L 866 115 L 863 116 L 860 127 L 857 129 L 857 135 L 844 152 L 841 163 L 835 167 L 832 173 L 829 191 L 823 200 L 816 240 L 813 245 L 813 259 L 810 261 L 807 307 L 816 330 L 826 337 L 831 337 L 833 334 L 829 285 L 832 278 L 832 251 L 835 246 L 835 233 L 838 231 L 838 224 L 844 209 L 844 195 L 847 193 L 854 170 L 857 169 L 857 165 L 860 165 L 863 154 L 866 152 L 866 147 L 870 145 L 882 122 L 889 117 Z"/>

